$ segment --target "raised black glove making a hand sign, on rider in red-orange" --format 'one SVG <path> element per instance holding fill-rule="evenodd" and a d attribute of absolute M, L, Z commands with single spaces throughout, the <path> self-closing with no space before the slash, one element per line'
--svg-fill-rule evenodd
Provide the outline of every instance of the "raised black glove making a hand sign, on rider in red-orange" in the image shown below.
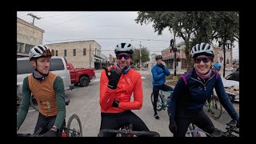
<path fill-rule="evenodd" d="M 110 70 L 108 70 L 105 66 L 103 66 L 102 68 L 106 71 L 106 77 L 109 79 L 109 83 L 107 86 L 112 90 L 117 89 L 122 72 L 127 69 L 127 66 L 125 66 L 121 71 L 118 69 L 114 69 L 114 67 L 111 67 Z"/>

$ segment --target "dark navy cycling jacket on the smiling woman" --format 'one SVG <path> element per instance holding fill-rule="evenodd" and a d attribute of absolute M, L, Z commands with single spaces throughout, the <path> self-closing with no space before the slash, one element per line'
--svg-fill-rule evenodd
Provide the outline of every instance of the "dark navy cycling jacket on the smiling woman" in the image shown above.
<path fill-rule="evenodd" d="M 206 100 L 213 94 L 214 88 L 218 99 L 230 114 L 230 117 L 238 120 L 238 114 L 224 90 L 222 78 L 218 72 L 212 70 L 210 78 L 204 84 L 198 80 L 198 75 L 195 73 L 194 68 L 178 79 L 168 106 L 170 118 L 175 118 L 175 113 L 178 109 L 183 109 L 189 113 L 197 113 L 202 110 Z"/>

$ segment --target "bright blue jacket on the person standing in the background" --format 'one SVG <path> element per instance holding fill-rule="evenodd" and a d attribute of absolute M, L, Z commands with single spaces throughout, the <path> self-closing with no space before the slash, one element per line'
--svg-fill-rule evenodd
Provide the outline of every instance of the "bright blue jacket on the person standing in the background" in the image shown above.
<path fill-rule="evenodd" d="M 162 70 L 158 64 L 155 64 L 152 69 L 151 73 L 153 75 L 153 86 L 160 86 L 163 85 L 166 82 L 166 76 L 170 75 L 170 71 L 165 66 L 165 69 Z"/>

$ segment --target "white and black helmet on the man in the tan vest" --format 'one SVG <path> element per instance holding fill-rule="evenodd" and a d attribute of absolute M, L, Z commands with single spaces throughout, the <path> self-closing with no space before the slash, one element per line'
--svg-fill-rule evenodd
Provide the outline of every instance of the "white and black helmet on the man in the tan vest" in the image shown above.
<path fill-rule="evenodd" d="M 51 50 L 47 46 L 38 45 L 38 46 L 34 46 L 30 50 L 29 55 L 30 55 L 29 59 L 39 58 L 39 57 L 51 57 Z"/>

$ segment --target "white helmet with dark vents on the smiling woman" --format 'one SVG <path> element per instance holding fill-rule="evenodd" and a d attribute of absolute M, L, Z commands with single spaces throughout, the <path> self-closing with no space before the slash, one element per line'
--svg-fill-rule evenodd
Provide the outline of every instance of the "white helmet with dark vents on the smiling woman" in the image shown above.
<path fill-rule="evenodd" d="M 214 59 L 214 48 L 209 43 L 202 42 L 196 44 L 191 50 L 193 58 L 197 58 L 199 55 L 206 55 L 207 57 Z"/>

